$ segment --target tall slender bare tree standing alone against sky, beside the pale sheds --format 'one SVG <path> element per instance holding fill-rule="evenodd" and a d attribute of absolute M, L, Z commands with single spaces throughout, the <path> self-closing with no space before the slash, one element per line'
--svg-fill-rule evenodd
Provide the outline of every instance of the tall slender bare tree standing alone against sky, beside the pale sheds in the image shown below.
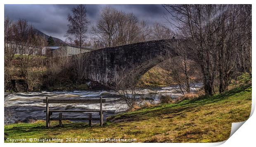
<path fill-rule="evenodd" d="M 67 35 L 74 44 L 80 47 L 80 52 L 82 53 L 82 46 L 85 43 L 86 32 L 88 29 L 88 23 L 86 16 L 85 5 L 78 5 L 76 8 L 72 9 L 72 15 L 68 15 L 68 30 Z"/>

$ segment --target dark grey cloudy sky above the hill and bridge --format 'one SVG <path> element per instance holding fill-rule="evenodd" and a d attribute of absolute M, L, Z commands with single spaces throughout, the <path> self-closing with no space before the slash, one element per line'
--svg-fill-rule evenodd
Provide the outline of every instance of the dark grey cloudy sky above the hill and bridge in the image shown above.
<path fill-rule="evenodd" d="M 94 25 L 102 7 L 106 5 L 86 5 L 90 26 Z M 140 20 L 149 24 L 165 22 L 165 10 L 161 5 L 110 5 L 124 12 L 132 12 Z M 5 5 L 5 16 L 10 19 L 26 19 L 41 32 L 65 40 L 67 15 L 76 5 Z M 90 33 L 90 27 L 88 30 Z"/>

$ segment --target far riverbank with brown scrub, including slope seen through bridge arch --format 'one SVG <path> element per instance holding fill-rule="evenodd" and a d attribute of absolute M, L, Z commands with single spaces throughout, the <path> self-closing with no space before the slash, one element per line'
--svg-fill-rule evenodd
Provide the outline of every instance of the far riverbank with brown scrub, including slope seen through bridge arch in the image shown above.
<path fill-rule="evenodd" d="M 104 86 L 98 82 L 84 79 L 77 81 L 65 77 L 66 75 L 56 75 L 53 79 L 47 75 L 46 67 L 35 67 L 32 71 L 33 78 L 27 79 L 21 76 L 20 67 L 17 62 L 19 56 L 15 56 L 13 67 L 10 69 L 9 82 L 5 92 L 39 92 L 39 91 L 70 91 L 70 90 L 110 90 L 108 86 Z M 62 73 L 62 72 L 61 72 Z M 71 76 L 73 77 L 73 76 Z M 51 82 L 52 81 L 52 82 Z M 49 85 L 49 83 L 51 83 Z M 155 87 L 155 86 L 171 86 L 175 85 L 172 79 L 171 72 L 164 70 L 159 66 L 155 66 L 147 71 L 138 82 L 141 87 Z"/>

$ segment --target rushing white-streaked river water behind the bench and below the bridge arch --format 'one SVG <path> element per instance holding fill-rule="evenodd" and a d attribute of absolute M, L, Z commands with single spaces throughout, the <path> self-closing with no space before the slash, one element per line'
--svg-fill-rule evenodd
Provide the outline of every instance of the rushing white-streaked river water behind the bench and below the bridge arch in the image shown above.
<path fill-rule="evenodd" d="M 196 91 L 201 88 L 202 84 L 196 84 L 192 86 L 191 90 Z M 177 98 L 182 94 L 178 93 L 175 89 L 178 86 L 161 87 L 157 91 L 150 91 L 149 89 L 143 89 L 142 94 L 148 94 L 150 92 L 157 92 L 158 95 L 171 95 L 172 98 Z M 99 98 L 102 91 L 53 91 L 53 92 L 31 92 L 31 93 L 13 93 L 9 95 L 10 99 L 5 110 L 11 110 L 13 115 L 13 122 L 22 121 L 26 122 L 29 119 L 45 119 L 45 104 L 43 99 L 48 97 L 49 99 L 90 99 Z M 118 93 L 115 91 L 107 91 L 109 94 L 104 96 L 106 103 L 103 103 L 103 110 L 110 110 L 104 113 L 104 119 L 115 113 L 127 110 L 127 106 L 120 100 Z M 157 97 L 156 97 L 157 103 Z M 50 104 L 50 110 L 85 110 L 85 109 L 100 109 L 99 103 L 94 104 Z M 64 117 L 88 117 L 88 113 L 64 113 Z M 92 112 L 92 117 L 100 117 L 99 113 Z M 53 113 L 52 117 L 57 117 L 58 113 Z"/>

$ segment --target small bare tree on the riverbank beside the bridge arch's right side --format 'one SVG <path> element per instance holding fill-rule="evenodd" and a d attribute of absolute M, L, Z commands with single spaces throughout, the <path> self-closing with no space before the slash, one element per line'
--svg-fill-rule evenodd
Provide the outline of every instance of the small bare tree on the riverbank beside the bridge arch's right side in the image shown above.
<path fill-rule="evenodd" d="M 161 67 L 171 72 L 170 76 L 173 82 L 179 85 L 178 92 L 185 94 L 190 92 L 190 86 L 201 79 L 201 72 L 198 64 L 193 61 L 190 52 L 190 45 L 187 40 L 172 39 L 166 41 L 165 52 L 168 58 Z"/>

